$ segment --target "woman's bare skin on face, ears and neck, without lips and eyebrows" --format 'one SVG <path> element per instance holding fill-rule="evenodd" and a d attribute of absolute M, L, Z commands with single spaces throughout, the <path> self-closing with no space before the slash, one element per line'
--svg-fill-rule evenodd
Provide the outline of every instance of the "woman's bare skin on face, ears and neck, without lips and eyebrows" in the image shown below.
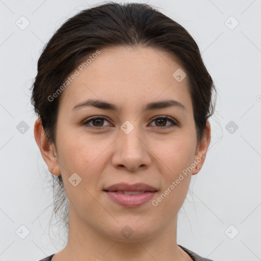
<path fill-rule="evenodd" d="M 177 246 L 177 213 L 191 176 L 204 163 L 200 155 L 206 155 L 210 144 L 210 123 L 197 142 L 188 76 L 181 82 L 174 79 L 173 72 L 181 67 L 169 54 L 143 47 L 100 51 L 61 94 L 57 149 L 48 142 L 41 121 L 35 122 L 42 157 L 52 174 L 62 175 L 69 199 L 68 242 L 52 260 L 192 260 Z M 89 106 L 72 111 L 89 98 L 106 100 L 121 109 L 113 112 Z M 169 98 L 181 102 L 186 110 L 142 110 L 149 102 Z M 179 126 L 155 121 L 155 116 L 162 115 Z M 105 119 L 103 123 L 90 121 L 88 127 L 83 122 L 91 116 Z M 129 134 L 120 128 L 126 120 L 134 126 Z M 149 201 L 123 207 L 102 191 L 118 182 L 144 182 L 158 190 L 156 199 L 197 159 L 201 159 L 200 169 L 188 172 L 157 206 Z M 76 187 L 68 181 L 74 172 L 82 178 Z M 121 234 L 126 225 L 134 231 L 129 238 Z"/>

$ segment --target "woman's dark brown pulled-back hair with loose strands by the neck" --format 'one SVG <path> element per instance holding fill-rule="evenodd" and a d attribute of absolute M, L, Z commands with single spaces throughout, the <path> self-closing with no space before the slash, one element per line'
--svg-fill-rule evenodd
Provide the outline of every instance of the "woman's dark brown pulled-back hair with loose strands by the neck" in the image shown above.
<path fill-rule="evenodd" d="M 180 24 L 152 6 L 108 2 L 69 18 L 51 37 L 38 60 L 31 101 L 49 142 L 56 145 L 58 106 L 62 94 L 53 101 L 48 97 L 63 85 L 84 58 L 107 46 L 151 47 L 169 53 L 181 64 L 190 83 L 197 140 L 200 141 L 206 120 L 215 110 L 212 93 L 216 93 L 216 89 L 196 42 Z M 66 195 L 62 177 L 52 176 L 58 181 L 54 194 L 56 213 L 66 201 Z M 67 210 L 64 215 L 67 220 Z M 66 224 L 68 228 L 68 221 Z"/>

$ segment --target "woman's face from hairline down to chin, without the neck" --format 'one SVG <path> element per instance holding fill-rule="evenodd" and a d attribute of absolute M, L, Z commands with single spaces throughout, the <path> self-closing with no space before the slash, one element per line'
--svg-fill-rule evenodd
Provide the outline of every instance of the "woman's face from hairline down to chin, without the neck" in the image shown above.
<path fill-rule="evenodd" d="M 188 76 L 173 77 L 182 68 L 170 55 L 141 47 L 100 51 L 60 94 L 56 165 L 46 162 L 62 174 L 70 219 L 115 240 L 145 240 L 175 222 L 208 142 L 197 143 Z M 90 99 L 97 102 L 80 105 Z M 119 183 L 153 189 L 106 191 Z M 126 231 L 134 231 L 131 238 Z"/>

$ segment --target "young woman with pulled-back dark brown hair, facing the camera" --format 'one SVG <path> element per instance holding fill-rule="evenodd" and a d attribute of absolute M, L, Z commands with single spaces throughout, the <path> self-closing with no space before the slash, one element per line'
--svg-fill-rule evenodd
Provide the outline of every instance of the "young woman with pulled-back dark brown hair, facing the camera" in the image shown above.
<path fill-rule="evenodd" d="M 34 134 L 66 192 L 68 242 L 41 261 L 210 260 L 176 242 L 216 91 L 197 44 L 146 4 L 68 19 L 38 61 Z"/>

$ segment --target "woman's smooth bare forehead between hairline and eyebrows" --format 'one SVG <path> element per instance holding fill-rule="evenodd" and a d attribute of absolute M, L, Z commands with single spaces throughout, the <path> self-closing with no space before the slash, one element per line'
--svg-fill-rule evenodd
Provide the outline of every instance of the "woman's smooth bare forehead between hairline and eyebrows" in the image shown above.
<path fill-rule="evenodd" d="M 143 47 L 111 47 L 99 51 L 99 55 L 83 59 L 80 67 L 76 67 L 77 72 L 73 71 L 77 76 L 63 91 L 61 107 L 72 109 L 88 98 L 106 99 L 119 107 L 127 102 L 138 106 L 141 101 L 172 96 L 190 109 L 188 77 L 182 81 L 175 79 L 174 72 L 182 70 L 185 75 L 185 70 L 170 54 Z"/>

